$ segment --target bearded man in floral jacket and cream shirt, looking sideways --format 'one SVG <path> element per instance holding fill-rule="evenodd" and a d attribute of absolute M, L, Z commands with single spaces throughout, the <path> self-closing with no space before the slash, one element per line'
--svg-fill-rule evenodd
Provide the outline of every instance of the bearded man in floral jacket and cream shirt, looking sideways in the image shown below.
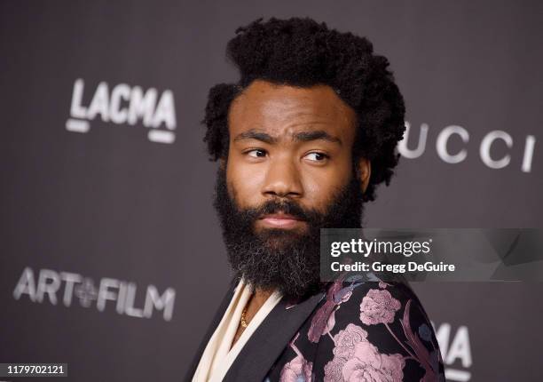
<path fill-rule="evenodd" d="M 204 119 L 236 277 L 186 380 L 445 380 L 405 284 L 319 280 L 320 228 L 361 227 L 397 165 L 405 107 L 388 60 L 309 19 L 236 33 L 240 81 L 211 89 Z"/>

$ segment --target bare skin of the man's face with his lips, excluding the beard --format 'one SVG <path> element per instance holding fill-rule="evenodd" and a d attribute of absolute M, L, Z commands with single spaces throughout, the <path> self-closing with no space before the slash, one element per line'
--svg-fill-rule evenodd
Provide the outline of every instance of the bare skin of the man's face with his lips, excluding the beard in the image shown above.
<path fill-rule="evenodd" d="M 234 100 L 229 116 L 226 180 L 241 208 L 288 199 L 324 213 L 349 181 L 356 115 L 332 88 L 255 81 Z M 263 217 L 255 228 L 307 229 L 288 218 Z"/>

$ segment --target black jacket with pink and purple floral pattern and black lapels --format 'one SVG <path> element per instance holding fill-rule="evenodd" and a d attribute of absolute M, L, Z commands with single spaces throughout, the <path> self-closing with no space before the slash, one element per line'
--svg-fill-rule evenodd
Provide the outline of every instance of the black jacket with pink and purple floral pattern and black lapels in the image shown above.
<path fill-rule="evenodd" d="M 232 293 L 231 289 L 229 293 Z M 190 380 L 232 294 L 194 357 Z M 224 381 L 445 381 L 437 339 L 404 283 L 339 279 L 297 304 L 279 302 Z"/>

